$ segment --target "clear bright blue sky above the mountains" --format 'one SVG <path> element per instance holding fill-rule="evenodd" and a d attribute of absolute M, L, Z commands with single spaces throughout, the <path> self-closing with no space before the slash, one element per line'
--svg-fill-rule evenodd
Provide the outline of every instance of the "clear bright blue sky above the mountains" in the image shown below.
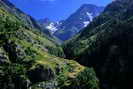
<path fill-rule="evenodd" d="M 106 6 L 111 0 L 10 0 L 16 7 L 35 19 L 50 18 L 53 21 L 66 19 L 82 4 Z"/>

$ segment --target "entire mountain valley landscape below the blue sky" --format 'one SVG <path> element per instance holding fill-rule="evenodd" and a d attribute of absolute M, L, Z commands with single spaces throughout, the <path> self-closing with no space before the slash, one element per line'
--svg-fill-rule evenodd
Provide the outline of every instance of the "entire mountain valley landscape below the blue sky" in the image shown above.
<path fill-rule="evenodd" d="M 133 0 L 59 22 L 0 0 L 0 89 L 132 89 L 132 59 Z"/>

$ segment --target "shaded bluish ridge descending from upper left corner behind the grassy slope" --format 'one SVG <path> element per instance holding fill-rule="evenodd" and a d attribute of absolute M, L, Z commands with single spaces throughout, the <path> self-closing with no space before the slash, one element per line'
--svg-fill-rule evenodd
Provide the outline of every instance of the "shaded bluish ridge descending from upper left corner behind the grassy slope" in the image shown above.
<path fill-rule="evenodd" d="M 46 47 L 45 47 L 46 50 L 48 50 L 49 48 L 55 48 L 55 49 L 57 48 L 57 50 L 60 50 L 60 47 L 58 49 L 58 44 L 50 36 L 50 33 L 46 29 L 44 31 L 44 29 L 41 28 L 41 26 L 38 24 L 38 22 L 34 18 L 32 18 L 31 16 L 25 14 L 21 10 L 17 9 L 8 0 L 0 1 L 0 8 L 6 10 L 11 15 L 13 15 L 15 18 L 20 20 L 20 22 L 22 22 L 23 27 L 30 28 L 34 32 L 40 33 L 40 35 L 44 36 L 44 39 L 46 41 L 46 43 L 45 43 L 46 44 Z M 43 30 L 43 32 L 42 32 L 42 30 Z M 52 44 L 53 47 L 51 45 L 49 45 L 49 44 Z M 57 54 L 58 54 L 58 52 L 57 52 Z"/>

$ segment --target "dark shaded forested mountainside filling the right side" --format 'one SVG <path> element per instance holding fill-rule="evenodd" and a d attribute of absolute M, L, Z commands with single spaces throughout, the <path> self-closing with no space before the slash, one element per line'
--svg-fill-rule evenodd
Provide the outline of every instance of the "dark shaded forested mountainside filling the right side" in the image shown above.
<path fill-rule="evenodd" d="M 94 67 L 101 89 L 130 89 L 133 79 L 133 0 L 115 0 L 64 44 L 66 58 Z"/>

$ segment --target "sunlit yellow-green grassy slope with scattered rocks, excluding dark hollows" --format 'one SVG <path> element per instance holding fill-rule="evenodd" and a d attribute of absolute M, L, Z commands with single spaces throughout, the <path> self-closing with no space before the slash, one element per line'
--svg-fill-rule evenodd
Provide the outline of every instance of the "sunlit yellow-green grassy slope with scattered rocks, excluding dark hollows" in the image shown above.
<path fill-rule="evenodd" d="M 38 31 L 23 26 L 23 24 L 21 24 L 22 22 L 14 15 L 2 8 L 0 8 L 0 23 L 0 51 L 2 54 L 4 53 L 6 55 L 6 59 L 8 60 L 0 66 L 0 85 L 3 89 L 13 89 L 13 86 L 11 87 L 10 84 L 17 85 L 12 79 L 16 78 L 16 76 L 23 76 L 24 79 L 28 80 L 27 72 L 36 69 L 37 65 L 50 68 L 55 73 L 55 80 L 58 82 L 58 87 L 61 89 L 70 88 L 70 86 L 73 86 L 73 88 L 76 86 L 80 87 L 81 85 L 77 85 L 76 81 L 79 81 L 80 78 L 84 80 L 87 75 L 87 77 L 91 77 L 92 79 L 85 78 L 86 83 L 84 84 L 81 83 L 83 81 L 79 81 L 79 84 L 86 85 L 81 88 L 98 88 L 98 80 L 91 68 L 89 69 L 75 61 L 66 60 L 49 54 L 47 46 L 56 48 L 56 44 L 49 41 Z M 54 51 L 58 50 L 55 49 Z M 56 71 L 57 68 L 60 69 L 59 73 Z M 7 71 L 5 71 L 5 69 Z M 84 70 L 86 72 L 84 72 Z M 82 76 L 82 74 L 84 75 Z M 5 77 L 7 78 L 5 79 Z M 77 79 L 77 77 L 79 78 Z M 6 84 L 6 86 L 3 86 L 3 84 Z M 21 83 L 21 85 L 23 84 Z M 32 84 L 31 87 L 33 89 L 38 89 L 37 86 L 36 84 Z"/>

